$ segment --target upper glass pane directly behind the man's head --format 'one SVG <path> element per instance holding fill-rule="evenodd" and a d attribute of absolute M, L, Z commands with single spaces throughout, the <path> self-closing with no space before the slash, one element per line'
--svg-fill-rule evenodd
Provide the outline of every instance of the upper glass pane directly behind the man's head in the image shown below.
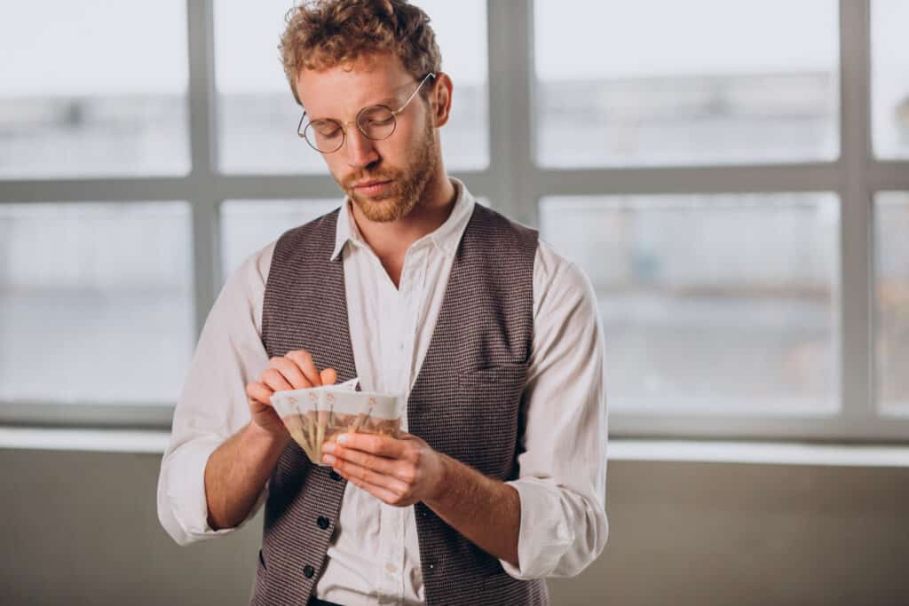
<path fill-rule="evenodd" d="M 489 164 L 486 3 L 419 3 L 432 18 L 443 69 L 454 81 L 452 116 L 442 129 L 445 166 Z M 227 173 L 327 174 L 322 156 L 296 134 L 294 101 L 276 46 L 289 3 L 215 0 L 215 83 L 221 170 Z"/>

